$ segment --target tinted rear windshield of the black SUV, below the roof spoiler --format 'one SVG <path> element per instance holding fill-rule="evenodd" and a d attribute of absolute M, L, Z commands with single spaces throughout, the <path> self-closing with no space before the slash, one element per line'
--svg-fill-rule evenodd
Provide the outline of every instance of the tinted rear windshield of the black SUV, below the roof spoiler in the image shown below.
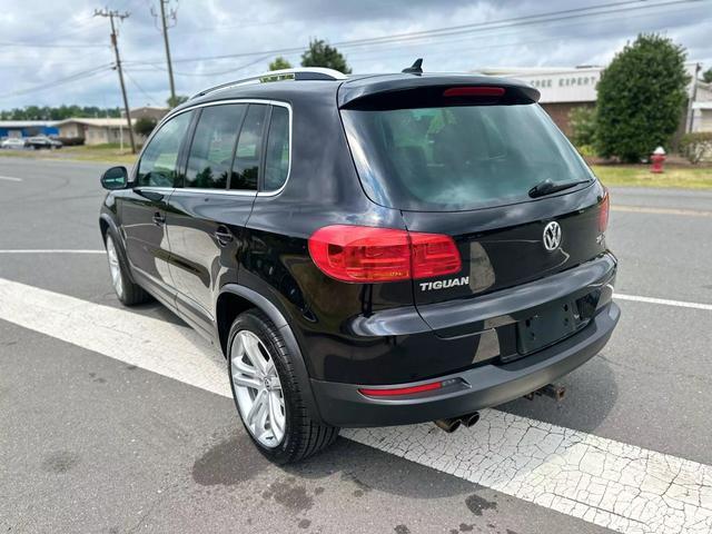
<path fill-rule="evenodd" d="M 458 211 L 531 200 L 543 180 L 593 178 L 538 105 L 342 110 L 372 200 Z"/>

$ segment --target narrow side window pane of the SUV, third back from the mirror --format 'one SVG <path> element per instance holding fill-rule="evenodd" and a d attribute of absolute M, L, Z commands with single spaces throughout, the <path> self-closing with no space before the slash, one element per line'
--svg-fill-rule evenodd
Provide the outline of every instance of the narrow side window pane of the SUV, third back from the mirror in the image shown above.
<path fill-rule="evenodd" d="M 247 109 L 235 150 L 230 189 L 257 189 L 267 108 L 266 105 L 250 103 Z"/>

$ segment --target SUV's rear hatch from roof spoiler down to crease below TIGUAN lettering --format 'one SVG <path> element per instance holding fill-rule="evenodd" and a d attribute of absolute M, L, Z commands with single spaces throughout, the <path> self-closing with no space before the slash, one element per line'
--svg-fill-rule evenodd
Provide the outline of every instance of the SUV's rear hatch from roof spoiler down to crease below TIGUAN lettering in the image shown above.
<path fill-rule="evenodd" d="M 409 231 L 452 236 L 459 250 L 458 273 L 414 280 L 426 320 L 424 305 L 526 284 L 605 251 L 605 191 L 534 89 L 484 77 L 359 86 L 340 103 L 364 190 L 402 210 Z M 560 230 L 545 243 L 552 221 Z"/>

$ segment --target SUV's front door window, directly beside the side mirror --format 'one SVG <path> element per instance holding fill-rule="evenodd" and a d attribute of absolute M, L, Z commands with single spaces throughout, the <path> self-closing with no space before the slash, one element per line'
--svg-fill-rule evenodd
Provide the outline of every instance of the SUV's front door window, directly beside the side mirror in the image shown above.
<path fill-rule="evenodd" d="M 174 187 L 178 174 L 178 152 L 188 131 L 192 111 L 174 117 L 151 138 L 138 162 L 138 187 Z"/>

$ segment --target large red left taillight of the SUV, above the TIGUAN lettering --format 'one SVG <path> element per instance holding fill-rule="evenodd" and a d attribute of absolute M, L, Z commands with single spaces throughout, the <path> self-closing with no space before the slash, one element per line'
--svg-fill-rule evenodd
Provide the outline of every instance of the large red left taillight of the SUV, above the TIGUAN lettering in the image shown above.
<path fill-rule="evenodd" d="M 309 255 L 324 274 L 353 283 L 432 278 L 462 269 L 452 237 L 395 228 L 327 226 L 309 238 Z"/>

